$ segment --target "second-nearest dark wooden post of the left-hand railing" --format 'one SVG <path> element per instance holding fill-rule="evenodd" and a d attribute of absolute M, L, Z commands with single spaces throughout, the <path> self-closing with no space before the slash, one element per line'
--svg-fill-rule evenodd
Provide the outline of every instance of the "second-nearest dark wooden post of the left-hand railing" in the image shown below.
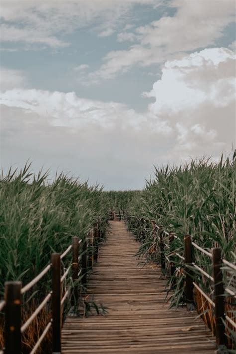
<path fill-rule="evenodd" d="M 52 263 L 52 352 L 61 353 L 61 257 L 51 255 Z"/>

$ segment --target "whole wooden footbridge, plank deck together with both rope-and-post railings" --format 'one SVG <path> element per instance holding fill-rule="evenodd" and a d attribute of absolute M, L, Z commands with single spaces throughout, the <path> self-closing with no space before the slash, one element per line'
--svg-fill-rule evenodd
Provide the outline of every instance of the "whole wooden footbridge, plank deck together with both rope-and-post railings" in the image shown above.
<path fill-rule="evenodd" d="M 1 322 L 4 324 L 4 354 L 213 354 L 216 344 L 218 349 L 221 348 L 217 353 L 228 353 L 222 351 L 226 346 L 233 349 L 228 334 L 229 329 L 232 333 L 236 330 L 236 291 L 230 283 L 224 283 L 223 270 L 225 275 L 233 274 L 235 279 L 236 264 L 222 258 L 220 248 L 213 248 L 210 252 L 192 242 L 189 235 L 182 239 L 182 255 L 175 248 L 174 252 L 170 251 L 173 239 L 179 242 L 178 236 L 166 232 L 166 240 L 163 238 L 165 231 L 154 221 L 134 217 L 135 230 L 142 239 L 145 223 L 149 228 L 151 226 L 154 244 L 160 251 L 160 266 L 145 264 L 135 255 L 140 244 L 127 231 L 121 213 L 113 212 L 109 218 L 105 239 L 104 229 L 100 229 L 101 221 L 97 221 L 84 237 L 74 236 L 72 244 L 61 254 L 53 253 L 51 262 L 28 284 L 22 287 L 19 281 L 5 283 L 4 300 L 0 301 L 0 314 L 4 316 Z M 128 223 L 130 218 L 132 216 L 126 216 Z M 169 249 L 169 258 L 165 257 L 165 247 Z M 212 262 L 212 276 L 202 269 L 201 264 L 195 263 L 193 247 Z M 180 258 L 180 267 L 175 268 L 173 254 Z M 194 294 L 201 297 L 201 306 L 199 302 L 196 304 L 202 318 L 195 310 L 187 311 L 186 307 L 170 308 L 165 290 L 167 279 L 162 275 L 165 258 L 171 279 L 178 281 L 178 274 L 184 272 L 188 310 L 193 305 Z M 205 290 L 207 293 L 191 273 L 193 267 L 211 282 L 209 290 Z M 41 302 L 33 313 L 29 308 L 27 317 L 23 317 L 24 294 L 34 294 L 38 282 L 50 273 L 48 294 L 38 300 Z M 83 315 L 81 302 L 94 305 L 94 311 L 88 317 L 78 316 L 78 312 Z M 103 316 L 98 311 L 100 304 L 107 311 Z M 62 324 L 63 314 L 68 314 L 69 309 L 74 315 L 69 312 L 72 314 L 67 315 Z M 42 312 L 43 323 L 38 328 L 38 316 Z M 31 343 L 30 334 L 35 328 L 37 336 Z"/>

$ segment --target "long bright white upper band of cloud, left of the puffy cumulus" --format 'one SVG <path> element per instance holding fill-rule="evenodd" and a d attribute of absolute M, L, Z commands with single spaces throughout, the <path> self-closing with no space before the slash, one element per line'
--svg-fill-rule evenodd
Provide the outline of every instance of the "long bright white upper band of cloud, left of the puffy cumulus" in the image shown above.
<path fill-rule="evenodd" d="M 169 134 L 171 131 L 165 121 L 158 121 L 152 113 L 140 114 L 116 102 L 79 98 L 74 92 L 7 90 L 2 93 L 0 103 L 47 117 L 53 126 L 77 129 L 98 125 L 106 129 L 119 124 L 123 128 L 141 130 L 148 124 L 156 133 Z"/>

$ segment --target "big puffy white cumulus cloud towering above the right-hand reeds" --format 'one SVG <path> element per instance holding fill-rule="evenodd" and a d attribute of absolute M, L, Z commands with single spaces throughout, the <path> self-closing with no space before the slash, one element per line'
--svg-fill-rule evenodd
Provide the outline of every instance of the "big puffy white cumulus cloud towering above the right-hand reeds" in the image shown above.
<path fill-rule="evenodd" d="M 227 48 L 209 48 L 167 61 L 161 79 L 144 93 L 155 98 L 149 111 L 173 129 L 172 158 L 230 151 L 235 143 L 235 58 Z"/>

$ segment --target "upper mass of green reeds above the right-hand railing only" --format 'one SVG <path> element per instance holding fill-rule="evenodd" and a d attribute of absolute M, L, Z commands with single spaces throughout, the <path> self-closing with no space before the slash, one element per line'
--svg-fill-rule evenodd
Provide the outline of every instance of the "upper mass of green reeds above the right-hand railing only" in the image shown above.
<path fill-rule="evenodd" d="M 235 168 L 235 158 L 223 157 L 219 163 L 202 159 L 155 168 L 154 179 L 132 199 L 128 211 L 155 220 L 168 232 L 190 234 L 202 247 L 218 245 L 232 259 L 236 247 Z M 146 241 L 151 242 L 149 231 Z"/>

